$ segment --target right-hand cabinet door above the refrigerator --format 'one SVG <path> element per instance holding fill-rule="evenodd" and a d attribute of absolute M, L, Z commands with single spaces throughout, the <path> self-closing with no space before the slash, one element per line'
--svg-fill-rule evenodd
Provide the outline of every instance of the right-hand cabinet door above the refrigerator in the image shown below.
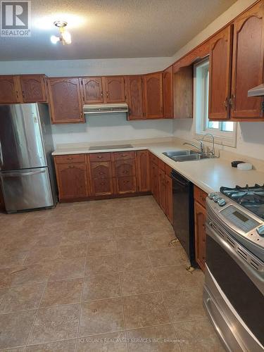
<path fill-rule="evenodd" d="M 22 75 L 20 85 L 24 103 L 46 101 L 46 87 L 44 75 Z"/>

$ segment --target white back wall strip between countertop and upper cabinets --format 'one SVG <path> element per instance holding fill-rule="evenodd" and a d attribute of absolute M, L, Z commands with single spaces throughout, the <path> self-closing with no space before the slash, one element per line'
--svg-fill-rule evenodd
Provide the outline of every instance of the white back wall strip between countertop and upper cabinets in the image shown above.
<path fill-rule="evenodd" d="M 172 137 L 172 120 L 127 121 L 124 113 L 86 115 L 85 124 L 54 125 L 55 144 Z"/>

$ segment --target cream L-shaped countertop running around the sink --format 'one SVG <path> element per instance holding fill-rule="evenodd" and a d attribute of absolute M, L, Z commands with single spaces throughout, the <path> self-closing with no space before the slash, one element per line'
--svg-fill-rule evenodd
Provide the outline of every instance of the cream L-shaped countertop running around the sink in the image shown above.
<path fill-rule="evenodd" d="M 103 149 L 96 151 L 89 151 L 89 144 L 64 144 L 63 147 L 59 146 L 54 153 L 52 153 L 52 155 L 58 156 L 67 154 L 148 149 L 151 153 L 155 154 L 162 161 L 170 165 L 171 168 L 177 172 L 180 172 L 182 176 L 186 177 L 207 193 L 210 193 L 211 191 L 219 191 L 221 186 L 234 187 L 237 184 L 240 186 L 245 186 L 246 184 L 253 186 L 256 183 L 264 183 L 264 172 L 257 170 L 238 170 L 237 168 L 232 168 L 230 161 L 223 158 L 183 161 L 180 163 L 172 161 L 170 158 L 163 155 L 164 151 L 189 149 L 189 146 L 183 146 L 177 142 L 127 142 L 127 144 L 128 143 L 132 144 L 133 147 L 126 149 Z"/>

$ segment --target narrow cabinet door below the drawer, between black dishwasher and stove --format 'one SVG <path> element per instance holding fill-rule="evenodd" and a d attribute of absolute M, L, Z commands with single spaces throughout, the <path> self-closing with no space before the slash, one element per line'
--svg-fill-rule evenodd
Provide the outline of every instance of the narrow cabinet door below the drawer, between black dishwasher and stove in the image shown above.
<path fill-rule="evenodd" d="M 206 208 L 194 203 L 195 217 L 195 256 L 201 270 L 205 270 L 206 263 Z"/>

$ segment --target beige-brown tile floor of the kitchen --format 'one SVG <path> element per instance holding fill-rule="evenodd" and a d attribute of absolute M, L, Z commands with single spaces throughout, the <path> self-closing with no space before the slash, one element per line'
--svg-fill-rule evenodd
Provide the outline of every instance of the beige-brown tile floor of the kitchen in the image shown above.
<path fill-rule="evenodd" d="M 223 351 L 152 196 L 0 214 L 0 350 Z"/>

